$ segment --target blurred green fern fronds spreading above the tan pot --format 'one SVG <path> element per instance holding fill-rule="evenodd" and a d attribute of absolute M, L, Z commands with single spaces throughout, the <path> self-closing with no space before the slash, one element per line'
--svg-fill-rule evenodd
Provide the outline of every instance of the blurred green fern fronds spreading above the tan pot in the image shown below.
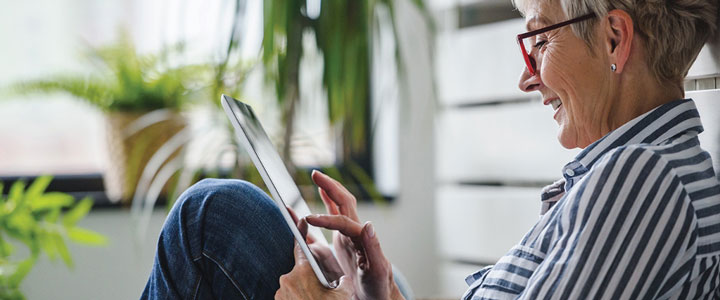
<path fill-rule="evenodd" d="M 182 51 L 182 44 L 141 55 L 127 33 L 121 31 L 119 36 L 115 44 L 88 51 L 86 58 L 95 67 L 92 75 L 59 74 L 18 82 L 10 90 L 19 94 L 63 92 L 104 111 L 142 112 L 180 110 L 197 92 L 188 88 L 189 84 L 209 82 L 208 66 L 168 64 L 168 57 Z"/>

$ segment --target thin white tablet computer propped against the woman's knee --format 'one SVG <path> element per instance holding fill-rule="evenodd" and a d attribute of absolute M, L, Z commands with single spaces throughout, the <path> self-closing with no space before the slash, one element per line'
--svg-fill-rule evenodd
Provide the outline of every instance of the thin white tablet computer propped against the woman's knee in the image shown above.
<path fill-rule="evenodd" d="M 302 198 L 300 189 L 293 181 L 292 176 L 290 176 L 290 172 L 285 167 L 280 154 L 278 154 L 262 125 L 260 125 L 260 121 L 249 105 L 226 95 L 222 95 L 220 101 L 235 129 L 235 135 L 250 154 L 253 164 L 260 172 L 260 176 L 270 191 L 275 204 L 280 208 L 285 222 L 287 222 L 290 231 L 295 236 L 295 240 L 297 240 L 305 257 L 310 262 L 310 266 L 312 266 L 318 280 L 327 288 L 335 288 L 338 278 L 329 278 L 328 274 L 330 273 L 321 268 L 286 208 L 286 206 L 292 208 L 298 218 L 310 214 L 310 209 Z M 327 244 L 327 240 L 319 228 L 308 226 L 308 234 L 312 235 L 316 242 Z"/>

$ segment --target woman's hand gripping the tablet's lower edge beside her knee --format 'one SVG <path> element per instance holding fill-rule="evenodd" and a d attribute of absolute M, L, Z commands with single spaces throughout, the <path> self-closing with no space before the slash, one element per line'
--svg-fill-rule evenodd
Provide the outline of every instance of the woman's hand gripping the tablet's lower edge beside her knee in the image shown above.
<path fill-rule="evenodd" d="M 334 289 L 325 288 L 320 284 L 305 254 L 295 242 L 295 267 L 290 273 L 280 276 L 280 289 L 275 293 L 275 299 L 349 300 L 352 299 L 353 294 L 353 285 L 347 276 L 340 277 L 339 284 Z"/>

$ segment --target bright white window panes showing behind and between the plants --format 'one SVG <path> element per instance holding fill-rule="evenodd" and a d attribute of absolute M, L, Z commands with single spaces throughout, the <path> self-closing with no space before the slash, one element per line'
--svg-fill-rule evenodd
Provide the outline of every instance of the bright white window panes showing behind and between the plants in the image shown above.
<path fill-rule="evenodd" d="M 165 44 L 172 44 L 171 41 L 185 40 L 192 47 L 186 49 L 183 59 L 189 62 L 215 59 L 223 55 L 218 49 L 224 48 L 223 43 L 227 43 L 230 32 L 230 26 L 225 25 L 230 24 L 233 10 L 225 7 L 227 5 L 234 5 L 234 2 L 33 0 L 9 4 L 0 11 L 0 17 L 12 26 L 2 28 L 0 32 L 13 47 L 0 49 L 0 65 L 4 66 L 0 73 L 0 85 L 53 74 L 87 72 L 89 66 L 82 60 L 82 52 L 87 46 L 113 42 L 120 24 L 130 24 L 129 30 L 140 51 L 152 52 Z M 243 57 L 256 59 L 262 39 L 262 3 L 248 1 L 243 9 L 245 14 L 241 25 L 244 39 L 240 53 Z M 314 46 L 312 40 L 305 44 L 309 48 Z M 379 51 L 394 57 L 392 49 Z M 321 87 L 322 57 L 312 49 L 305 53 L 301 75 L 304 101 L 295 122 L 292 157 L 300 166 L 332 165 L 337 161 L 337 144 L 334 142 L 337 137 L 327 125 L 327 106 L 323 102 L 325 92 Z M 255 68 L 248 75 L 243 95 L 233 96 L 264 106 L 258 109 L 259 115 L 273 135 L 273 131 L 282 129 L 282 124 L 265 121 L 276 119 L 278 113 L 277 108 L 267 105 L 274 103 L 274 96 L 268 93 L 272 89 L 266 88 L 259 71 Z M 381 97 L 388 97 L 387 92 L 382 93 Z M 394 93 L 390 96 L 397 97 L 396 90 Z M 106 121 L 98 109 L 64 94 L 21 96 L 8 93 L 0 97 L 0 178 L 7 181 L 23 176 L 53 174 L 96 181 L 109 167 Z M 396 109 L 392 111 L 397 112 Z M 191 120 L 203 122 L 208 118 L 223 117 L 198 109 L 191 115 Z M 387 113 L 375 113 L 374 118 L 368 123 L 378 126 L 388 123 L 383 121 L 388 119 Z M 368 170 L 385 172 L 383 170 L 392 169 L 388 157 L 392 160 L 393 156 L 388 156 L 382 147 L 393 144 L 393 137 L 384 130 L 380 133 L 374 128 L 374 132 L 377 133 L 375 142 L 368 143 L 368 147 L 374 148 L 368 153 L 383 153 L 383 156 L 379 160 L 363 157 L 361 165 Z M 201 155 L 202 146 L 189 147 L 186 158 L 189 165 L 202 167 L 208 163 L 207 158 Z M 228 163 L 227 157 L 225 163 Z M 384 193 L 393 191 L 392 187 L 388 188 L 393 184 L 388 178 L 385 176 L 379 185 Z"/>

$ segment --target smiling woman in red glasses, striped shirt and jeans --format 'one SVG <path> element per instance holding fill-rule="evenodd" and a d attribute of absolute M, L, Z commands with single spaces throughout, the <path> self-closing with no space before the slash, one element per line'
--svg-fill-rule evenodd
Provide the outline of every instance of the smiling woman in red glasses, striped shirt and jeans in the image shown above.
<path fill-rule="evenodd" d="M 522 241 L 468 276 L 464 298 L 720 297 L 720 184 L 682 84 L 715 30 L 717 1 L 515 4 L 530 30 L 518 36 L 520 89 L 542 94 L 560 143 L 583 150 L 543 190 L 543 215 Z M 299 224 L 336 230 L 335 256 L 314 246 L 345 274 L 337 288 L 322 287 L 292 250 L 267 196 L 208 180 L 168 217 L 144 297 L 402 298 L 353 196 L 323 174 L 313 180 L 328 214 Z"/>

